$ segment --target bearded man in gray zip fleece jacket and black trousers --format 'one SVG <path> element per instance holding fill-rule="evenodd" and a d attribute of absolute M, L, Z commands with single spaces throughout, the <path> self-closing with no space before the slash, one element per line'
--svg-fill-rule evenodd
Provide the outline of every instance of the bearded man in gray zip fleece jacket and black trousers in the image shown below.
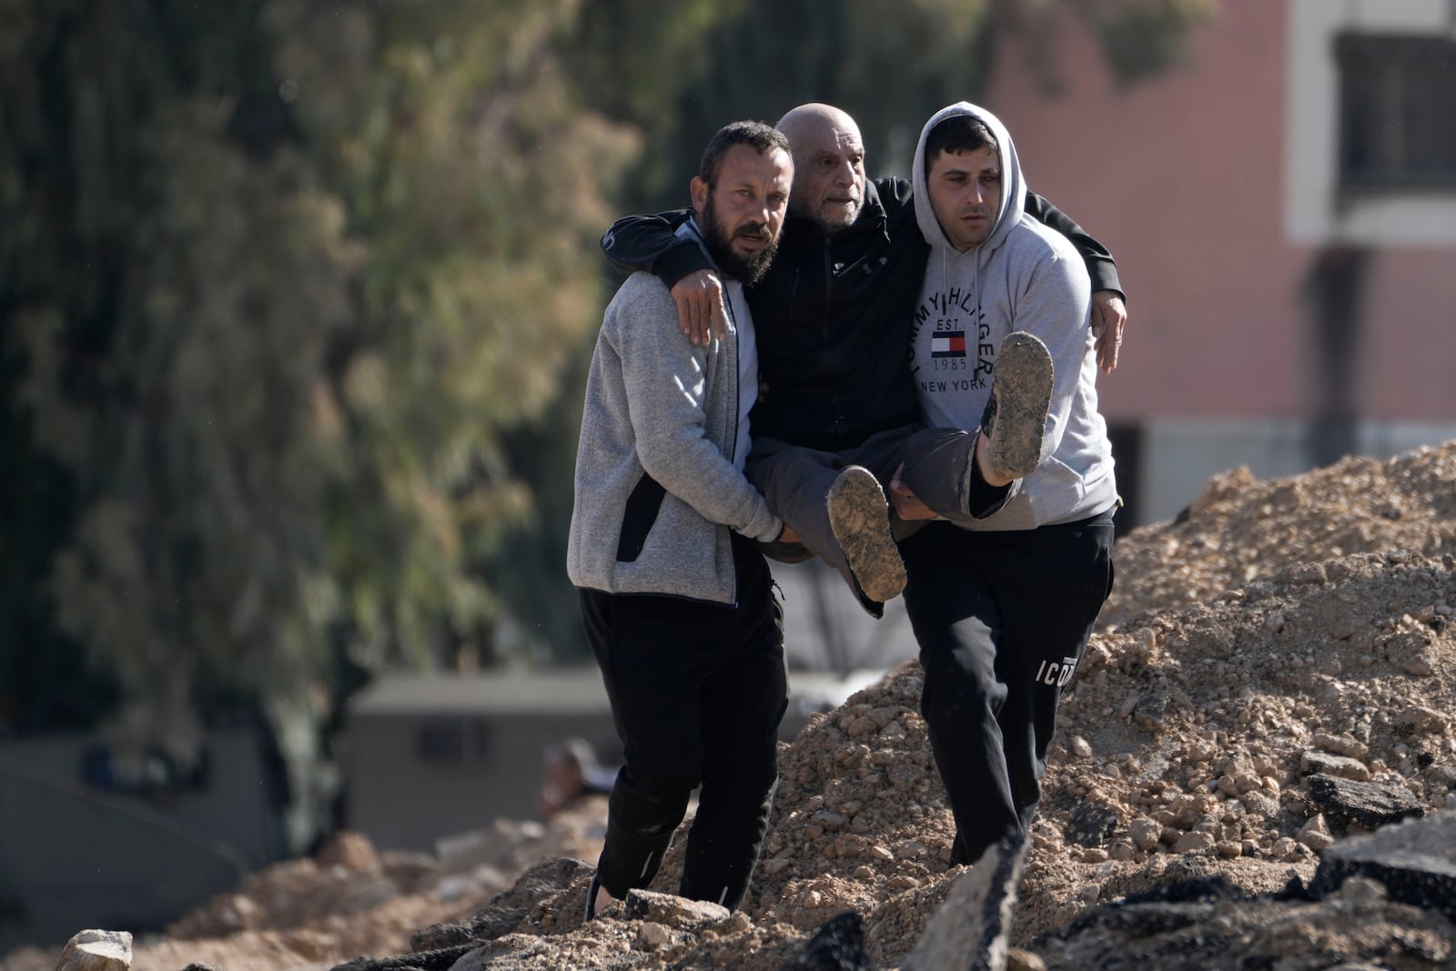
<path fill-rule="evenodd" d="M 773 259 L 792 181 L 788 140 L 761 122 L 727 125 L 703 151 L 678 233 L 729 281 L 722 339 L 695 346 L 668 288 L 645 272 L 601 323 L 566 572 L 625 764 L 588 919 L 651 884 L 697 786 L 683 897 L 737 907 L 767 830 L 788 683 L 782 611 L 754 542 L 786 536 L 743 475 L 759 395 L 743 285 Z"/>

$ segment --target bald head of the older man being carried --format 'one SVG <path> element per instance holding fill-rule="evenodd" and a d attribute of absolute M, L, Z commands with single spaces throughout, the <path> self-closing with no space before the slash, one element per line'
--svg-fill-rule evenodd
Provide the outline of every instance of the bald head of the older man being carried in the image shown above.
<path fill-rule="evenodd" d="M 799 105 L 778 124 L 794 148 L 789 210 L 834 233 L 865 205 L 865 143 L 859 125 L 833 105 Z"/>

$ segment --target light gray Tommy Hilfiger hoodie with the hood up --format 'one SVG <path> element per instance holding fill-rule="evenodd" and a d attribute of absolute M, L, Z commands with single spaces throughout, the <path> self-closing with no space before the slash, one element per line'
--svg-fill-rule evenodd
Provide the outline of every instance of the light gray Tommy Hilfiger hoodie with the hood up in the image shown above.
<path fill-rule="evenodd" d="M 925 178 L 925 140 L 955 115 L 973 115 L 992 131 L 1002 165 L 996 223 L 983 243 L 964 253 L 936 221 Z M 1041 464 L 999 512 L 967 528 L 1029 530 L 1102 512 L 1117 502 L 1117 482 L 1107 424 L 1096 409 L 1092 287 L 1072 243 L 1026 218 L 1026 183 L 1010 132 L 984 108 L 967 102 L 942 108 L 920 132 L 911 179 L 916 218 L 930 243 L 910 341 L 926 422 L 967 431 L 980 424 L 996 352 L 1012 330 L 1041 338 L 1056 367 Z"/>

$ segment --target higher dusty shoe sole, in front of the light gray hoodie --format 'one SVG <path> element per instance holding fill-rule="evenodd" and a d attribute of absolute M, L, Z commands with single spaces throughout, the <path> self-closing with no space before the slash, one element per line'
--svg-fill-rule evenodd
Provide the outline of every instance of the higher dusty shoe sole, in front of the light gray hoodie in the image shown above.
<path fill-rule="evenodd" d="M 1051 408 L 1056 368 L 1047 345 L 1025 330 L 1002 341 L 992 376 L 992 397 L 981 415 L 986 432 L 983 473 L 996 479 L 1025 479 L 1041 464 L 1041 437 Z"/>

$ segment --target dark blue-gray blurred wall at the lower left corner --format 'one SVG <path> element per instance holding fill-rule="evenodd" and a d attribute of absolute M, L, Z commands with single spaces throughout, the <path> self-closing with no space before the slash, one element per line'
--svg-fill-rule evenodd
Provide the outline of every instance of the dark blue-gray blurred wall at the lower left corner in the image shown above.
<path fill-rule="evenodd" d="M 0 744 L 0 954 L 77 930 L 160 930 L 282 855 L 277 769 L 252 731 L 205 738 L 207 770 L 106 785 L 92 735 Z"/>

